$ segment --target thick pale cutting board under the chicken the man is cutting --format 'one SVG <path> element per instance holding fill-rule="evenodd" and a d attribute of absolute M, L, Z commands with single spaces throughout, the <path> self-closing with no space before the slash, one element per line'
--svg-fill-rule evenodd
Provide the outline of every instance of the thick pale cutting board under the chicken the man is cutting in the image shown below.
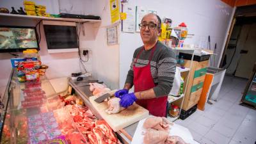
<path fill-rule="evenodd" d="M 108 122 L 109 126 L 113 129 L 113 131 L 119 131 L 124 127 L 127 127 L 135 122 L 143 118 L 148 117 L 148 110 L 142 108 L 138 104 L 134 104 L 134 106 L 130 106 L 129 108 L 121 111 L 120 113 L 116 114 L 108 114 L 106 113 L 106 109 L 108 108 L 107 102 L 95 102 L 96 96 L 90 97 L 90 102 L 92 103 L 93 107 L 98 111 L 98 113 Z"/>

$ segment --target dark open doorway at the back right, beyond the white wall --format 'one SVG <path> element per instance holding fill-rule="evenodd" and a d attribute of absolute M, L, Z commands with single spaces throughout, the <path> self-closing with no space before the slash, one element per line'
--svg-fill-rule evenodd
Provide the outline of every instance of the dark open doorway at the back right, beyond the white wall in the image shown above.
<path fill-rule="evenodd" d="M 246 11 L 246 7 L 250 8 Z M 234 15 L 220 67 L 228 75 L 248 79 L 256 63 L 256 5 L 242 9 L 237 8 Z"/>

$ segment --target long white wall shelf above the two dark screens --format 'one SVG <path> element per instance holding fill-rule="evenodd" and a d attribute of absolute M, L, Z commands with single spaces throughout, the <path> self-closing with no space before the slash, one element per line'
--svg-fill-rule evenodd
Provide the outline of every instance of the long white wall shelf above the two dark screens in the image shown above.
<path fill-rule="evenodd" d="M 72 18 L 55 18 L 55 17 L 41 17 L 35 15 L 17 15 L 12 13 L 0 13 L 0 17 L 8 17 L 14 19 L 29 19 L 29 20 L 56 20 L 56 21 L 66 21 L 66 22 L 90 22 L 90 23 L 97 23 L 101 22 L 101 20 L 95 19 L 72 19 Z"/>

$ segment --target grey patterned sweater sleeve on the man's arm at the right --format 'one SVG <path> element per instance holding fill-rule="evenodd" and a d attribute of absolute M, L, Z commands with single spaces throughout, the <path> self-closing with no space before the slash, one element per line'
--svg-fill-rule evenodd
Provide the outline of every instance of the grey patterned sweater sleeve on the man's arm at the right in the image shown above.
<path fill-rule="evenodd" d="M 168 95 L 172 90 L 176 71 L 176 59 L 172 50 L 167 51 L 157 63 L 158 84 L 153 88 L 156 97 Z"/>

